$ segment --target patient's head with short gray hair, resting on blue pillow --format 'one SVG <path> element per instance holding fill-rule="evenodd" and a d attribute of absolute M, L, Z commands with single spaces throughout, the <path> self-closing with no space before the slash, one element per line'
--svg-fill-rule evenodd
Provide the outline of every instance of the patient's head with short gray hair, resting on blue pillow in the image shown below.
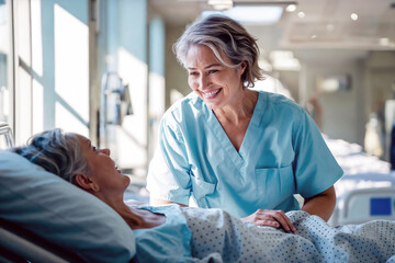
<path fill-rule="evenodd" d="M 33 136 L 27 145 L 12 149 L 106 204 L 123 199 L 129 178 L 122 174 L 109 149 L 98 149 L 78 134 L 52 129 Z"/>

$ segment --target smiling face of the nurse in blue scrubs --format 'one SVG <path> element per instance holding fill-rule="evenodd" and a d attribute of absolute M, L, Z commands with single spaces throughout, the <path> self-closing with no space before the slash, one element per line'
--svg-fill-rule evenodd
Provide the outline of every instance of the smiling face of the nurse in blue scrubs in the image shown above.
<path fill-rule="evenodd" d="M 232 65 L 230 59 L 223 56 Z M 241 75 L 244 66 L 229 68 L 222 65 L 212 49 L 204 45 L 192 45 L 185 60 L 189 73 L 188 83 L 191 89 L 212 110 L 237 104 L 244 91 Z"/>

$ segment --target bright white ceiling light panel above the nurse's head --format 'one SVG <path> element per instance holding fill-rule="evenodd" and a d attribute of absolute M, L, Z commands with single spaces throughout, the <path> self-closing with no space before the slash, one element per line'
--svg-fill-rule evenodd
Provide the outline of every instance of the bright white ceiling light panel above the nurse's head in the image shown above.
<path fill-rule="evenodd" d="M 274 24 L 281 18 L 281 7 L 235 7 L 227 11 L 205 11 L 202 16 L 224 14 L 245 24 Z"/>

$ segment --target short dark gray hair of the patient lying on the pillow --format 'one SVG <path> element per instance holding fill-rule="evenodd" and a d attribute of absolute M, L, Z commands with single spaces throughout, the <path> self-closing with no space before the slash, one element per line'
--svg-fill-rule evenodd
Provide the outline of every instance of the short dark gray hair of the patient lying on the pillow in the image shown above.
<path fill-rule="evenodd" d="M 65 134 L 58 128 L 34 135 L 26 146 L 11 151 L 71 183 L 77 173 L 89 171 L 77 135 Z"/>

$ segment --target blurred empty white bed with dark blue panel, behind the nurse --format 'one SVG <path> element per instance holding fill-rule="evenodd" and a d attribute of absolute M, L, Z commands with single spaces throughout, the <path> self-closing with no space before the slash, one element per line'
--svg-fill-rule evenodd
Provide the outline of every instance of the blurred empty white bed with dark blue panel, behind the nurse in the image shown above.
<path fill-rule="evenodd" d="M 329 224 L 395 220 L 395 172 L 390 163 L 365 155 L 359 145 L 324 138 L 345 171 L 335 184 L 337 204 Z"/>

